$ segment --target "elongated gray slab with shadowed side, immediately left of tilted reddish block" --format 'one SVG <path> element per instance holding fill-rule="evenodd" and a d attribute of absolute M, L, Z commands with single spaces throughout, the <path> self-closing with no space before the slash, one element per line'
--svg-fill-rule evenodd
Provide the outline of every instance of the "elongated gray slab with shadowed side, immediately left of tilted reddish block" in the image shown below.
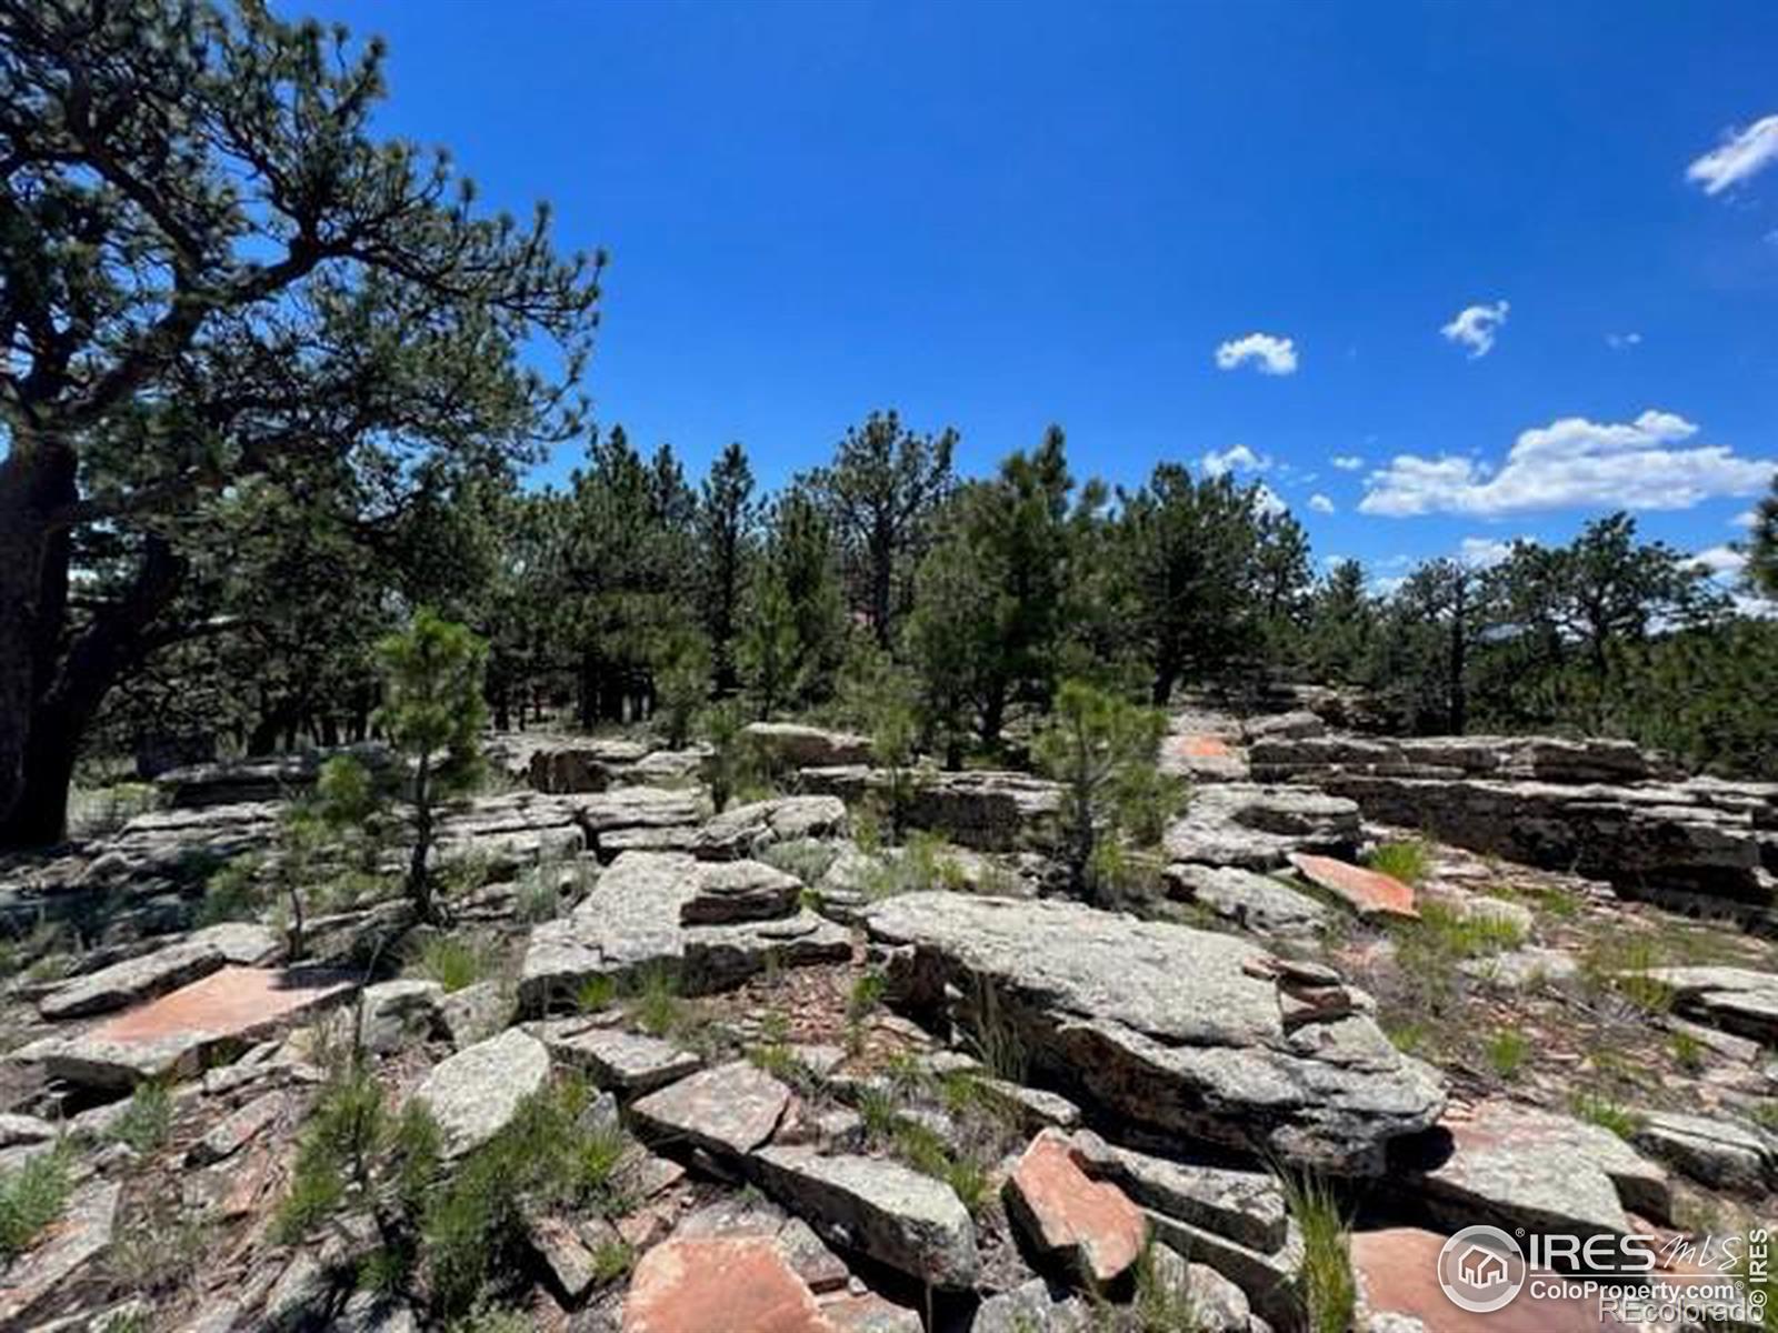
<path fill-rule="evenodd" d="M 973 1287 L 981 1269 L 969 1210 L 942 1180 L 884 1157 L 761 1148 L 759 1184 L 825 1241 L 933 1287 Z"/>

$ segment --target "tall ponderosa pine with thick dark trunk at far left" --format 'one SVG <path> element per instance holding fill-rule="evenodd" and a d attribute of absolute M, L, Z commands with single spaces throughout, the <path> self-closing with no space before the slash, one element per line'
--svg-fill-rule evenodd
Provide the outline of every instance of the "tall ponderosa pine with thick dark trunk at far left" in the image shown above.
<path fill-rule="evenodd" d="M 220 498 L 400 503 L 576 428 L 599 259 L 478 217 L 382 96 L 380 44 L 258 0 L 0 5 L 0 844 L 62 834 L 107 693 L 208 633 Z"/>

